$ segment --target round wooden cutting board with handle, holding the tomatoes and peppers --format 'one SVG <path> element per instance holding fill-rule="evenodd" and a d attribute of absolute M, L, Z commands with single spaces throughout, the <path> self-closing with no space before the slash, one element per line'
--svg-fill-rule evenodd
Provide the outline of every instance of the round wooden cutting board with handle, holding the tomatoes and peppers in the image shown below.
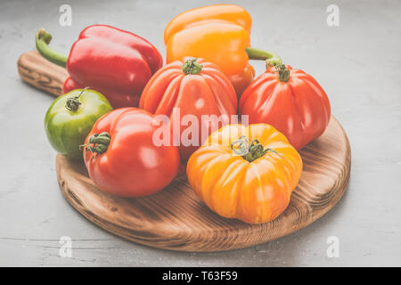
<path fill-rule="evenodd" d="M 35 52 L 20 57 L 19 70 L 24 81 L 52 94 L 60 94 L 60 82 L 67 76 L 65 70 Z M 351 162 L 347 134 L 340 123 L 331 117 L 324 134 L 300 154 L 304 168 L 290 206 L 266 224 L 218 216 L 197 198 L 185 176 L 157 194 L 124 199 L 99 191 L 83 164 L 61 155 L 56 158 L 56 172 L 70 204 L 109 232 L 155 248 L 220 251 L 254 246 L 298 231 L 339 201 L 348 185 Z"/>

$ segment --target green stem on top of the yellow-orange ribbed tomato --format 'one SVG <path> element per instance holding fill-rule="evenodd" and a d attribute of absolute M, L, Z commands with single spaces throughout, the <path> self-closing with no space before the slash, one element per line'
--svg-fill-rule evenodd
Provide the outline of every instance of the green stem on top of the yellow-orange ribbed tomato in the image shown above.
<path fill-rule="evenodd" d="M 279 154 L 273 149 L 264 149 L 263 145 L 258 140 L 250 141 L 245 135 L 241 135 L 238 140 L 232 142 L 231 149 L 233 153 L 240 155 L 242 159 L 246 159 L 249 162 L 263 157 L 268 151 Z"/>

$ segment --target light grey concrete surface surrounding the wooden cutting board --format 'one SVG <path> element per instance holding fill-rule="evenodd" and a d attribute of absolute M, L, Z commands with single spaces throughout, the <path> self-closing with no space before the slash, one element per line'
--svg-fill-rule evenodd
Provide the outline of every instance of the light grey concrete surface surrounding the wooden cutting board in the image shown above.
<path fill-rule="evenodd" d="M 16 61 L 33 50 L 37 28 L 68 53 L 82 28 L 110 24 L 146 37 L 165 55 L 163 31 L 178 12 L 209 1 L 4 1 L 0 3 L 0 265 L 340 266 L 401 265 L 401 2 L 231 1 L 253 18 L 252 45 L 274 50 L 312 74 L 352 148 L 348 191 L 307 228 L 257 247 L 182 253 L 122 240 L 91 224 L 61 196 L 55 153 L 43 127 L 51 95 L 21 82 Z M 228 3 L 220 1 L 220 3 Z M 59 25 L 61 4 L 71 27 Z M 326 8 L 340 6 L 340 27 Z M 258 74 L 262 62 L 255 62 Z M 72 258 L 59 256 L 70 236 Z M 326 240 L 340 240 L 328 258 Z"/>

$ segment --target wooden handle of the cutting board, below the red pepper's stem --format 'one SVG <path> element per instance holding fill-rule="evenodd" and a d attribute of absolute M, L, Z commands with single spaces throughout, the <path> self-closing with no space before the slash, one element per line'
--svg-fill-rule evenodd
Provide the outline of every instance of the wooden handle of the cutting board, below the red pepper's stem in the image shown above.
<path fill-rule="evenodd" d="M 46 61 L 37 51 L 22 53 L 18 72 L 23 81 L 54 96 L 62 95 L 62 85 L 69 76 L 66 69 Z"/>

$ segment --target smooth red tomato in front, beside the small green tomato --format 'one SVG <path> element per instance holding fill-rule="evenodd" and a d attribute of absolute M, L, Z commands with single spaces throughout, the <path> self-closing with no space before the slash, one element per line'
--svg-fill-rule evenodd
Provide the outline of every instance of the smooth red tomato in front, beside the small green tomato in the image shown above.
<path fill-rule="evenodd" d="M 153 116 L 121 108 L 99 118 L 86 138 L 84 159 L 89 176 L 102 191 L 138 197 L 162 190 L 176 176 L 175 146 L 154 143 Z M 168 143 L 167 143 L 168 144 Z"/>

